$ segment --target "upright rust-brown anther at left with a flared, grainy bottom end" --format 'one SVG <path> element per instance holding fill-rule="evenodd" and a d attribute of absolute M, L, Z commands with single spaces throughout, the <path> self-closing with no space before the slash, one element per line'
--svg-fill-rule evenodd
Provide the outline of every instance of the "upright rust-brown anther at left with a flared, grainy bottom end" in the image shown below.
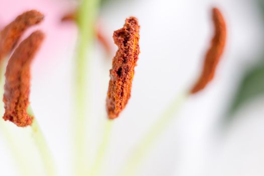
<path fill-rule="evenodd" d="M 19 127 L 32 124 L 32 117 L 27 114 L 30 65 L 43 39 L 44 34 L 41 31 L 32 33 L 16 48 L 7 65 L 3 99 L 6 112 L 3 118 Z"/>

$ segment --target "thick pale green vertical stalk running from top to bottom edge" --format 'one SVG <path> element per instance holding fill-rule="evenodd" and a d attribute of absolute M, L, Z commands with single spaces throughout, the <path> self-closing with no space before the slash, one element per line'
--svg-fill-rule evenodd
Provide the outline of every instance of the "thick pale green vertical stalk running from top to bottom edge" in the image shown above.
<path fill-rule="evenodd" d="M 86 124 L 86 93 L 88 87 L 87 72 L 89 65 L 89 58 L 91 46 L 94 40 L 94 27 L 97 18 L 97 10 L 99 0 L 82 0 L 78 14 L 77 24 L 79 30 L 77 55 L 75 60 L 75 108 L 73 114 L 73 127 L 74 127 L 74 175 L 85 175 L 85 167 L 87 165 L 85 158 L 85 124 Z"/>

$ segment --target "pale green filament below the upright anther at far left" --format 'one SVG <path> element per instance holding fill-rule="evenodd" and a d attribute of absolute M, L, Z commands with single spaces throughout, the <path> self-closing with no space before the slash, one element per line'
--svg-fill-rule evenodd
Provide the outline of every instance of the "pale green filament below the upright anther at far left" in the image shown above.
<path fill-rule="evenodd" d="M 28 107 L 28 114 L 31 117 L 35 117 L 33 114 L 31 106 Z M 33 119 L 31 129 L 32 129 L 33 140 L 36 144 L 36 147 L 37 147 L 39 154 L 42 158 L 44 168 L 46 170 L 46 175 L 55 176 L 56 171 L 55 171 L 54 160 L 53 160 L 51 151 L 50 151 L 50 149 L 46 143 L 45 137 L 44 137 L 44 135 L 43 135 L 43 133 L 39 127 L 39 124 L 38 124 L 36 118 Z"/>

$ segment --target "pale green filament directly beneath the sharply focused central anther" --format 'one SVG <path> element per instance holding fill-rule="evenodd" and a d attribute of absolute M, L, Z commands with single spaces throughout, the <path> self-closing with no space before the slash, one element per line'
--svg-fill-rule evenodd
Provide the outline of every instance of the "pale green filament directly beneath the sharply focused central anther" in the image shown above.
<path fill-rule="evenodd" d="M 103 138 L 100 143 L 98 153 L 96 155 L 96 160 L 90 170 L 90 174 L 88 174 L 89 176 L 97 176 L 100 175 L 101 173 L 100 172 L 101 166 L 103 164 L 103 159 L 109 146 L 112 127 L 113 127 L 113 120 L 107 120 L 104 128 Z"/>

